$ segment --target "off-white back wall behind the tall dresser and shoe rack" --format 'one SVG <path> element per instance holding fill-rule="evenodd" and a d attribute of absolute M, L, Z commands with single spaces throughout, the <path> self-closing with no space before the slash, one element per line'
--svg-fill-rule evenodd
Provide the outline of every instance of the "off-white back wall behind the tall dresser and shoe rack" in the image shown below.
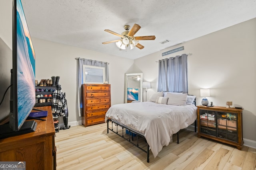
<path fill-rule="evenodd" d="M 115 57 L 60 43 L 32 37 L 36 53 L 36 80 L 60 76 L 59 84 L 66 93 L 68 122 L 80 121 L 77 109 L 77 61 L 76 57 L 109 63 L 109 83 L 111 84 L 111 104 L 124 103 L 124 75 L 132 67 L 134 60 Z"/>

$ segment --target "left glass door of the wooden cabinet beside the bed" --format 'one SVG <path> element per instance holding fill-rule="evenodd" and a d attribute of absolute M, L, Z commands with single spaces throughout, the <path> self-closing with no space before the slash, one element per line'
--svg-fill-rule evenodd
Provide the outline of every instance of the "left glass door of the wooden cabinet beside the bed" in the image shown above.
<path fill-rule="evenodd" d="M 216 137 L 216 112 L 211 110 L 200 109 L 199 114 L 200 132 Z"/>

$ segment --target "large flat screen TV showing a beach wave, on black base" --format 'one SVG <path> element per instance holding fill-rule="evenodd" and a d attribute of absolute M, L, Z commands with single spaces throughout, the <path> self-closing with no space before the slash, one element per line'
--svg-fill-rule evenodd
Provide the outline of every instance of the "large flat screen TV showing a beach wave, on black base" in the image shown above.
<path fill-rule="evenodd" d="M 12 70 L 9 123 L 0 138 L 35 131 L 35 121 L 25 121 L 35 105 L 35 53 L 20 0 L 13 0 Z"/>

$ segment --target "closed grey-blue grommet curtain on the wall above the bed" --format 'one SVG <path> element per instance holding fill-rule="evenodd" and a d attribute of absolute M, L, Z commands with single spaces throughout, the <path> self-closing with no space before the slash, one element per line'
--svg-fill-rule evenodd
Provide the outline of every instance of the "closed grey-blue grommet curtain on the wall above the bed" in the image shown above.
<path fill-rule="evenodd" d="M 158 92 L 188 93 L 188 55 L 158 61 Z"/>

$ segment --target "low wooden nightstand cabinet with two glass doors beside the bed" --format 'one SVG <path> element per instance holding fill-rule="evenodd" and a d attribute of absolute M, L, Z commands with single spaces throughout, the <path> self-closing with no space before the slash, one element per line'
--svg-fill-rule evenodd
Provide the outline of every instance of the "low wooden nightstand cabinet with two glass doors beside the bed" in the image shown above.
<path fill-rule="evenodd" d="M 242 111 L 232 107 L 197 106 L 198 137 L 206 137 L 233 145 L 241 150 L 244 144 Z"/>

